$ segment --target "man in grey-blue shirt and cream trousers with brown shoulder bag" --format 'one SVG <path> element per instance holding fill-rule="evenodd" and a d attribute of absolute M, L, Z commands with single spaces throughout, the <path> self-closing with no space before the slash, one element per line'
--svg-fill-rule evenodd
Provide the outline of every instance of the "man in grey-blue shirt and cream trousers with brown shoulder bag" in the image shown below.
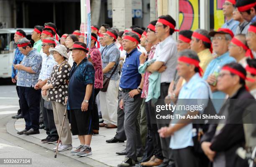
<path fill-rule="evenodd" d="M 100 109 L 102 112 L 103 123 L 100 127 L 116 128 L 117 127 L 117 107 L 118 107 L 118 84 L 120 80 L 119 75 L 119 59 L 120 51 L 115 45 L 117 40 L 117 33 L 109 29 L 104 33 L 104 42 L 106 46 L 101 51 L 103 62 L 103 77 L 110 78 L 107 91 L 100 91 Z M 103 79 L 104 80 L 104 79 Z"/>

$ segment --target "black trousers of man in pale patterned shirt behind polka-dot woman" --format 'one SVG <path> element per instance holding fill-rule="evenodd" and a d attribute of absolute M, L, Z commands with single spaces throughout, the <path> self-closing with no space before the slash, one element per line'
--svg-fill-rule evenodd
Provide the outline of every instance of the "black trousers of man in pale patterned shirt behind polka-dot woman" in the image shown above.
<path fill-rule="evenodd" d="M 44 99 L 41 98 L 41 103 L 44 104 Z M 44 106 L 44 105 L 43 105 Z M 44 118 L 44 126 L 46 128 L 46 135 L 49 137 L 59 137 L 55 123 L 53 110 L 48 110 L 47 108 L 42 108 L 42 114 Z"/>

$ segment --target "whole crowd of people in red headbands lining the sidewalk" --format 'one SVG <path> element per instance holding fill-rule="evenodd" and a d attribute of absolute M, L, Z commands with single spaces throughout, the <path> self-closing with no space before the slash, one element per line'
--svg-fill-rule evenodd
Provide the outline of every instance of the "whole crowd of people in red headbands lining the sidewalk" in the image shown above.
<path fill-rule="evenodd" d="M 225 24 L 210 32 L 176 30 L 170 15 L 146 30 L 92 25 L 90 47 L 83 32 L 59 37 L 51 22 L 34 27 L 33 46 L 17 30 L 12 81 L 20 110 L 13 118 L 26 122 L 18 134 L 44 128 L 41 142 L 60 140 L 59 152 L 72 150 L 71 135 L 78 135 L 71 154 L 83 157 L 92 155 L 99 127 L 117 128 L 106 142 L 126 140 L 118 167 L 248 167 L 237 150 L 248 155 L 256 147 L 256 124 L 243 120 L 256 98 L 256 0 L 225 0 L 223 13 Z M 230 117 L 203 131 L 191 120 L 156 119 L 157 102 L 182 99 L 211 100 L 217 114 Z"/>

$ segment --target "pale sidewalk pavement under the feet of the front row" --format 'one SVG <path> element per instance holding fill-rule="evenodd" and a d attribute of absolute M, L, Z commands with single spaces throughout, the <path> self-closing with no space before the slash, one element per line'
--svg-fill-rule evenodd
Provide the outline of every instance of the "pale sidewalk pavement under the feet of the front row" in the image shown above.
<path fill-rule="evenodd" d="M 49 144 L 42 143 L 41 139 L 46 137 L 46 131 L 40 130 L 40 134 L 37 135 L 18 135 L 17 131 L 21 131 L 25 128 L 24 119 L 12 119 L 6 125 L 6 130 L 9 134 L 18 137 L 27 142 L 39 145 L 49 150 L 49 154 L 54 157 L 55 152 L 52 150 L 56 147 L 57 143 Z M 106 143 L 106 140 L 115 136 L 116 129 L 107 129 L 100 127 L 99 135 L 92 136 L 91 148 L 92 155 L 86 157 L 79 157 L 77 155 L 71 155 L 71 150 L 59 152 L 58 154 L 70 157 L 74 160 L 90 165 L 92 167 L 116 167 L 118 163 L 124 160 L 124 155 L 117 155 L 115 152 L 125 149 L 126 143 Z M 78 136 L 72 136 L 73 149 L 80 145 Z M 57 155 L 58 158 L 58 155 Z M 75 167 L 75 165 L 74 165 Z"/>

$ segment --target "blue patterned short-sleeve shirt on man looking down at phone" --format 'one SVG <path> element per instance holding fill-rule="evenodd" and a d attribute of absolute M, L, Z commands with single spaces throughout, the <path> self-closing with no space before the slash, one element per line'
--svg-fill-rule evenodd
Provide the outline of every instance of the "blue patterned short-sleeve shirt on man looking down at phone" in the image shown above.
<path fill-rule="evenodd" d="M 36 49 L 33 49 L 23 58 L 21 64 L 25 67 L 31 67 L 36 73 L 33 74 L 24 70 L 18 70 L 17 86 L 34 87 L 38 82 L 38 77 L 42 67 L 41 55 L 36 51 Z"/>

